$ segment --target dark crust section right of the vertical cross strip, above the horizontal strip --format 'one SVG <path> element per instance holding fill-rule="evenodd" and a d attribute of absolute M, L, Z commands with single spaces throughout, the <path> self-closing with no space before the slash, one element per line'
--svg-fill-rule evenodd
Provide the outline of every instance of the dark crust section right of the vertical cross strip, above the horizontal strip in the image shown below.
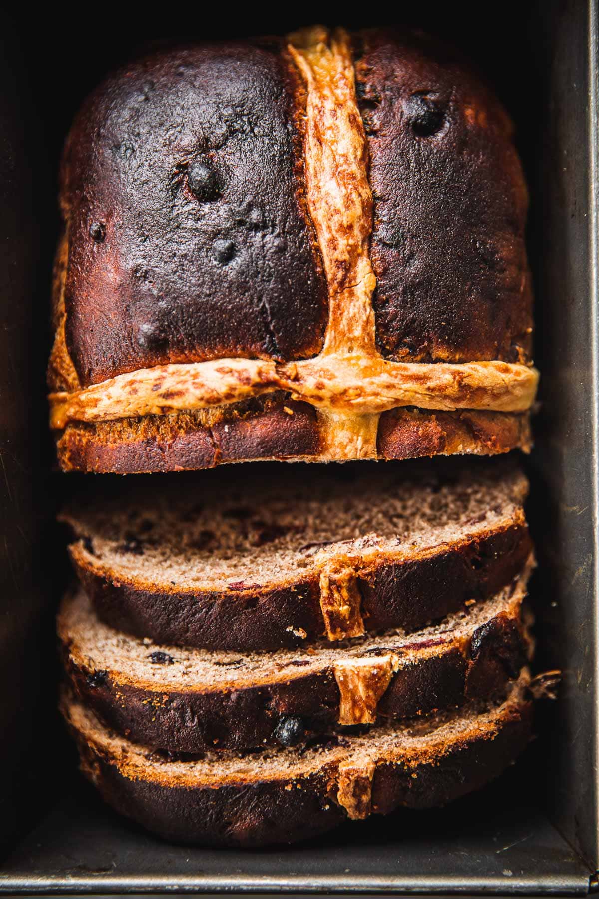
<path fill-rule="evenodd" d="M 383 352 L 529 361 L 528 198 L 506 111 L 454 50 L 422 33 L 365 31 L 355 48 Z"/>

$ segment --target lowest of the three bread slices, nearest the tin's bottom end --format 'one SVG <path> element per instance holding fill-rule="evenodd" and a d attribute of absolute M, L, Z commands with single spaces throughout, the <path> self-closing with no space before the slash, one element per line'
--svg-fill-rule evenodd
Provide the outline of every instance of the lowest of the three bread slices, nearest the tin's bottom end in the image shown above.
<path fill-rule="evenodd" d="M 62 710 L 102 797 L 162 837 L 212 846 L 302 840 L 350 818 L 440 806 L 480 788 L 530 739 L 526 675 L 486 711 L 334 735 L 301 751 L 165 761 L 107 730 L 67 695 Z"/>

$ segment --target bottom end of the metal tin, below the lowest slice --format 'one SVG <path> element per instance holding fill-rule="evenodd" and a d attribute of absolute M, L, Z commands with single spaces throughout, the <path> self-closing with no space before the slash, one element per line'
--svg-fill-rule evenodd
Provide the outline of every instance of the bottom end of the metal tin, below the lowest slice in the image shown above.
<path fill-rule="evenodd" d="M 7 859 L 0 893 L 584 895 L 588 868 L 522 798 L 515 768 L 482 805 L 467 797 L 433 815 L 396 814 L 289 849 L 239 852 L 165 846 L 74 784 Z"/>

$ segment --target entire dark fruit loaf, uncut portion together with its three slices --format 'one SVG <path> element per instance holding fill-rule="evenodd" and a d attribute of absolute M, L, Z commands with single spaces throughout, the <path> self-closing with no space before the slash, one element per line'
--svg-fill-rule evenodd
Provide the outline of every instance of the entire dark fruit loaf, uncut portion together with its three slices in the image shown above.
<path fill-rule="evenodd" d="M 84 774 L 249 847 L 497 777 L 532 729 L 526 479 L 374 470 L 530 449 L 527 195 L 489 88 L 417 31 L 165 47 L 84 103 L 60 206 L 58 462 L 141 475 L 61 516 Z M 260 460 L 359 462 L 143 477 Z"/>

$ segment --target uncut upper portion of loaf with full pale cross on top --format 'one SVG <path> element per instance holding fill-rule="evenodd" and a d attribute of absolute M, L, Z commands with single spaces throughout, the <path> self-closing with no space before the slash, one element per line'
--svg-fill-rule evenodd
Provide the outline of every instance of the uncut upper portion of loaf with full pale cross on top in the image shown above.
<path fill-rule="evenodd" d="M 66 141 L 64 469 L 530 445 L 527 196 L 453 50 L 313 28 L 163 50 Z"/>

